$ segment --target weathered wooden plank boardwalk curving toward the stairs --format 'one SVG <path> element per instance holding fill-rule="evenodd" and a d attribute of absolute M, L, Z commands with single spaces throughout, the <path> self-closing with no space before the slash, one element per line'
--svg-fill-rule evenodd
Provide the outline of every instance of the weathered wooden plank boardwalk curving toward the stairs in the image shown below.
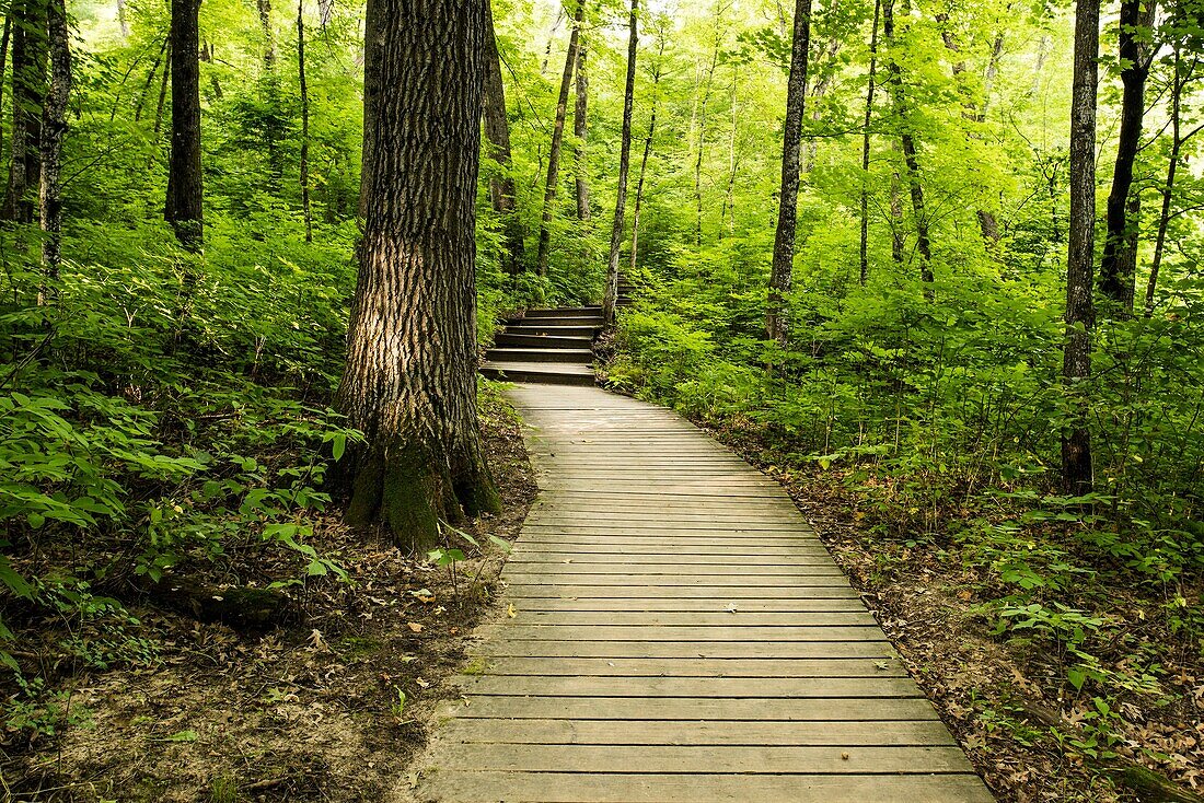
<path fill-rule="evenodd" d="M 777 483 L 673 413 L 520 385 L 541 496 L 417 795 L 993 798 Z"/>

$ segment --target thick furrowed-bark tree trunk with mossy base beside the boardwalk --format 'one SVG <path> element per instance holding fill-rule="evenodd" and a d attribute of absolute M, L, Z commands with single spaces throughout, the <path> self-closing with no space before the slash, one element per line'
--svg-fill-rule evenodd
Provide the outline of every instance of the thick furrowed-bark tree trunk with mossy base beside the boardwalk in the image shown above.
<path fill-rule="evenodd" d="M 476 195 L 485 6 L 368 0 L 374 142 L 338 407 L 353 525 L 401 547 L 497 509 L 477 420 Z M 438 120 L 438 125 L 432 125 Z"/>

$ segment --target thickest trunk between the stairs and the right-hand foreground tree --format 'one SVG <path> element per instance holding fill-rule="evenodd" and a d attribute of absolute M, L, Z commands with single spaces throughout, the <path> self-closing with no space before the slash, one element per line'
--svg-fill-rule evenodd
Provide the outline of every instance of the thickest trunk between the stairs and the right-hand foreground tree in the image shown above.
<path fill-rule="evenodd" d="M 795 39 L 786 83 L 786 125 L 781 143 L 781 197 L 778 229 L 773 238 L 773 267 L 769 272 L 769 303 L 765 315 L 766 335 L 786 342 L 785 295 L 790 293 L 795 267 L 795 229 L 798 223 L 798 171 L 803 144 L 803 113 L 807 105 L 807 57 L 811 39 L 811 0 L 795 2 Z"/>

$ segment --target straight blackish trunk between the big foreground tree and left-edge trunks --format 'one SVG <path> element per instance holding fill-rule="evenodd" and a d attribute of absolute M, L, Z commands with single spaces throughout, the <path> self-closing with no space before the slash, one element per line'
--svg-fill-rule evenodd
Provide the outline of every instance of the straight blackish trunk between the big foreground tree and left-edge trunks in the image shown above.
<path fill-rule="evenodd" d="M 166 218 L 184 248 L 203 241 L 200 0 L 171 0 L 171 159 Z"/>

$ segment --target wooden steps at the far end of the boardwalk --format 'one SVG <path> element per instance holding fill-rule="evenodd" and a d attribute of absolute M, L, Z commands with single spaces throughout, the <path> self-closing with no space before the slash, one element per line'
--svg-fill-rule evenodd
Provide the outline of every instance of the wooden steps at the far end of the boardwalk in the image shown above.
<path fill-rule="evenodd" d="M 480 373 L 506 382 L 592 385 L 594 336 L 601 327 L 601 307 L 527 309 L 497 336 Z"/>

